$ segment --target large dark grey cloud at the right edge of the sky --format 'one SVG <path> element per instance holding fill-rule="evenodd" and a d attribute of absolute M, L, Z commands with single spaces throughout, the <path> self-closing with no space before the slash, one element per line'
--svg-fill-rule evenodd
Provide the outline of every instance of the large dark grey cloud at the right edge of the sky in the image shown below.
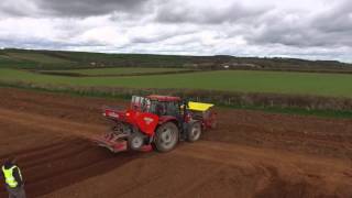
<path fill-rule="evenodd" d="M 282 44 L 296 47 L 352 46 L 352 6 L 342 1 L 316 12 L 274 11 L 260 19 L 252 44 Z"/>

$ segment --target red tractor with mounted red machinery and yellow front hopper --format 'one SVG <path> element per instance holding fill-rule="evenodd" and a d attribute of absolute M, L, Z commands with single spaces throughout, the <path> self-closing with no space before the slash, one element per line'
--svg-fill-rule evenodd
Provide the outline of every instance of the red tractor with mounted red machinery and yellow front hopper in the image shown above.
<path fill-rule="evenodd" d="M 110 132 L 96 138 L 95 142 L 114 153 L 143 151 L 151 146 L 168 152 L 180 140 L 195 142 L 204 130 L 216 127 L 212 106 L 185 102 L 179 97 L 134 96 L 128 110 L 103 109 L 103 116 L 114 124 Z"/>

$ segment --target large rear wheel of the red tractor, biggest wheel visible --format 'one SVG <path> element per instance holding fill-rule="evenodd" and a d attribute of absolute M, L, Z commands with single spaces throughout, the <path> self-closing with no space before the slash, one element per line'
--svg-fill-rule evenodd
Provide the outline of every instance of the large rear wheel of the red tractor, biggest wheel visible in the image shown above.
<path fill-rule="evenodd" d="M 178 128 L 173 122 L 166 122 L 157 128 L 154 145 L 158 152 L 172 151 L 178 142 Z"/>

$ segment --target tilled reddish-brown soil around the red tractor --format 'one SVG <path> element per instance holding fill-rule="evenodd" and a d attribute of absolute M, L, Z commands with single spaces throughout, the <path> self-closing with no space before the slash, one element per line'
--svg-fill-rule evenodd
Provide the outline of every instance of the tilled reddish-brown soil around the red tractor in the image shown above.
<path fill-rule="evenodd" d="M 111 154 L 89 141 L 103 105 L 125 106 L 0 89 L 0 161 L 18 157 L 30 198 L 352 196 L 352 120 L 218 109 L 197 143 Z"/>

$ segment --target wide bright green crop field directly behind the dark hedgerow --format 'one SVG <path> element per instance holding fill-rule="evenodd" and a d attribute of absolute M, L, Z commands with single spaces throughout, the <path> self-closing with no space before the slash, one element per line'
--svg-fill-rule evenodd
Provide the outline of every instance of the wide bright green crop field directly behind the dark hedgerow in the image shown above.
<path fill-rule="evenodd" d="M 63 77 L 0 69 L 0 80 L 61 86 L 180 88 L 352 98 L 352 75 L 345 74 L 218 70 L 129 77 Z"/>

